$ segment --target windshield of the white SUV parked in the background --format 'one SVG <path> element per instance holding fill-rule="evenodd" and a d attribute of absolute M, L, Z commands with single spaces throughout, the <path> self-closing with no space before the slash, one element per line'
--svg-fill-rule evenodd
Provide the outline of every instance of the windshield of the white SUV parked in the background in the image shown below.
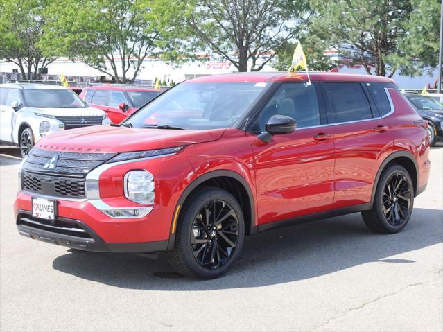
<path fill-rule="evenodd" d="M 85 103 L 71 90 L 23 89 L 25 105 L 28 107 L 78 108 Z"/>

